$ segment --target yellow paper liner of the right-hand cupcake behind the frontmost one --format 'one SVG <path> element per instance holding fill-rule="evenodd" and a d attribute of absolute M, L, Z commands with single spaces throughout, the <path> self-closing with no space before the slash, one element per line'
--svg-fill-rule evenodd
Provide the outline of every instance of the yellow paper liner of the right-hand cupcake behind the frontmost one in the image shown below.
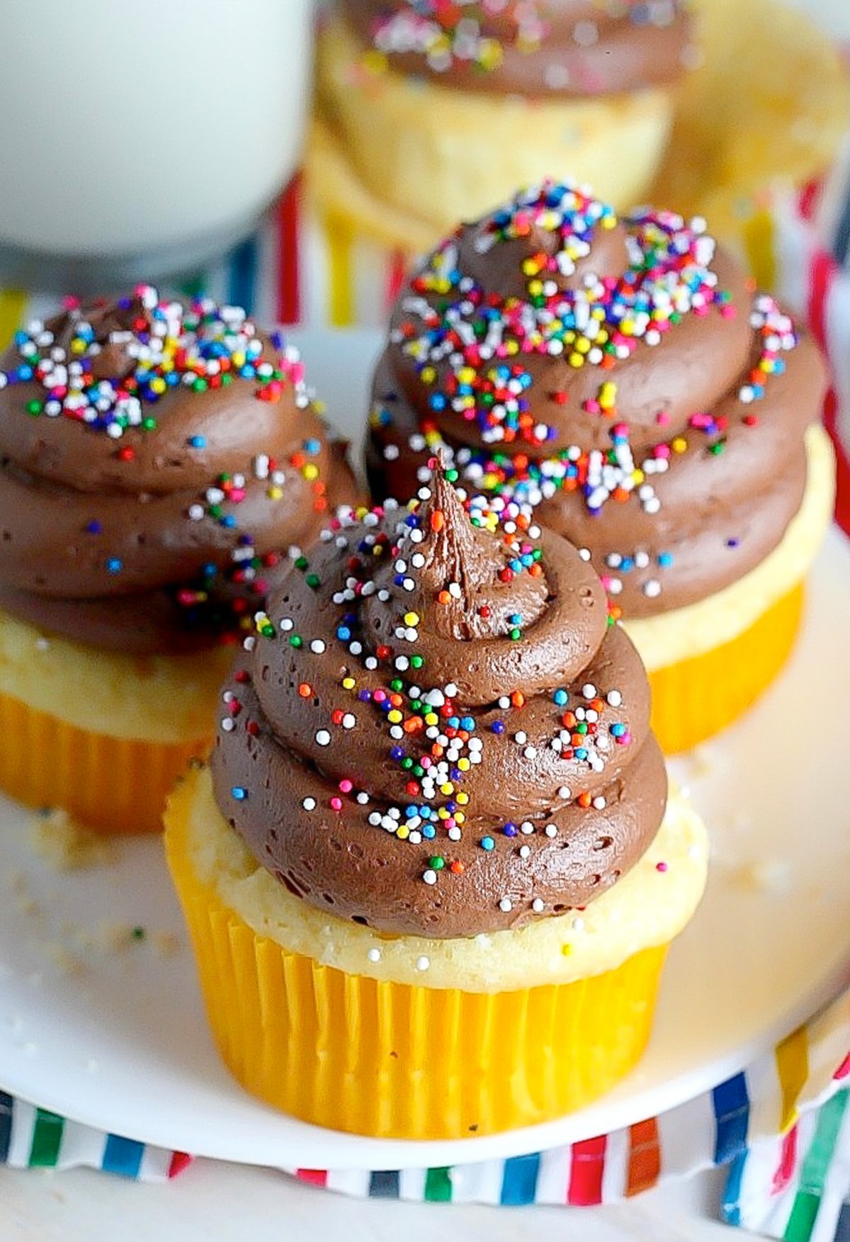
<path fill-rule="evenodd" d="M 649 673 L 651 724 L 666 754 L 720 733 L 764 693 L 790 656 L 803 597 L 798 582 L 735 638 Z"/>

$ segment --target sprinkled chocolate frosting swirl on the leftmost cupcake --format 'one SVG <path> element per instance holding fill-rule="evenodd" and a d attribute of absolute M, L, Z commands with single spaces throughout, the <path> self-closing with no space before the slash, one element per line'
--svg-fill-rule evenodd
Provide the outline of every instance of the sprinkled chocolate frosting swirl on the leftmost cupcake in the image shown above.
<path fill-rule="evenodd" d="M 0 606 L 46 628 L 215 641 L 354 499 L 297 353 L 236 307 L 71 303 L 0 368 Z"/>

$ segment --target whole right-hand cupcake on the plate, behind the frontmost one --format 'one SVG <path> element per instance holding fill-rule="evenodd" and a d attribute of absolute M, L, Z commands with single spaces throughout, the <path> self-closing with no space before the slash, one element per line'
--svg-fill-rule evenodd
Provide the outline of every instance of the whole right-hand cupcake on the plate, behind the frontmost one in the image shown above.
<path fill-rule="evenodd" d="M 544 183 L 463 225 L 396 303 L 374 381 L 376 496 L 443 452 L 503 517 L 589 553 L 666 751 L 782 668 L 830 522 L 824 366 L 702 220 L 622 220 Z"/>

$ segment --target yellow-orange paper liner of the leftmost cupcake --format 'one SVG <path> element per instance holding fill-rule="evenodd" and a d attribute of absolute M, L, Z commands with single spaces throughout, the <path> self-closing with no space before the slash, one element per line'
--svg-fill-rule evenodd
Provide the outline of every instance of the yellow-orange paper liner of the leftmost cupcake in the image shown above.
<path fill-rule="evenodd" d="M 0 789 L 29 806 L 61 806 L 104 833 L 158 832 L 175 780 L 211 744 L 110 738 L 2 693 L 0 737 Z"/>

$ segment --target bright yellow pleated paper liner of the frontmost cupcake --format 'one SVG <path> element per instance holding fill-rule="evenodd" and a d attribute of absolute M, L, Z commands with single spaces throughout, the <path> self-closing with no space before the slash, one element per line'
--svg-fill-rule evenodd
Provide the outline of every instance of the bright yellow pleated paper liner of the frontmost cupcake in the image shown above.
<path fill-rule="evenodd" d="M 640 1057 L 666 945 L 576 982 L 464 992 L 325 966 L 258 935 L 200 878 L 189 800 L 165 846 L 221 1056 L 253 1094 L 316 1125 L 439 1139 L 588 1104 Z"/>

